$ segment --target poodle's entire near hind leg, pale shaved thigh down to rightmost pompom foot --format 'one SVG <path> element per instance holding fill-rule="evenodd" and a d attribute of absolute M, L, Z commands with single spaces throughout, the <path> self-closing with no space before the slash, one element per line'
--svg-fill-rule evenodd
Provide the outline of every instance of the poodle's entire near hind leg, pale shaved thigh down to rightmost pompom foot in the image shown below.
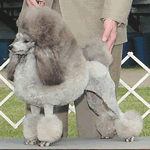
<path fill-rule="evenodd" d="M 88 91 L 96 93 L 102 98 L 104 103 L 113 114 L 114 125 L 119 137 L 124 137 L 126 141 L 132 141 L 135 136 L 139 136 L 143 128 L 142 117 L 135 111 L 125 114 L 120 110 L 115 95 L 115 84 L 109 74 L 109 69 L 98 62 L 87 62 L 90 72 Z"/>

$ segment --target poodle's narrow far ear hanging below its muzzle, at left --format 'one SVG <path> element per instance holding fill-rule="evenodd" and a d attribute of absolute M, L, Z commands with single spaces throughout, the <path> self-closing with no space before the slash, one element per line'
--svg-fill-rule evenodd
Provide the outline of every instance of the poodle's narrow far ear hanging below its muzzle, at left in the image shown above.
<path fill-rule="evenodd" d="M 18 55 L 13 55 L 10 53 L 10 62 L 7 66 L 7 78 L 11 81 L 14 81 L 14 73 L 17 65 L 20 62 L 20 58 Z"/>

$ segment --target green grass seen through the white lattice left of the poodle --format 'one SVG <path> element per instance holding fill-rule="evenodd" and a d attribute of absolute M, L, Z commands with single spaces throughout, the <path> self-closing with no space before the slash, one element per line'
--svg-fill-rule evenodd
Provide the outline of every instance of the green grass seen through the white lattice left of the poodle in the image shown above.
<path fill-rule="evenodd" d="M 11 92 L 8 88 L 0 88 L 0 100 Z M 0 108 L 14 123 L 17 123 L 25 114 L 25 105 L 16 95 L 13 95 Z M 23 137 L 23 125 L 14 129 L 7 121 L 0 116 L 0 138 L 21 138 Z"/>

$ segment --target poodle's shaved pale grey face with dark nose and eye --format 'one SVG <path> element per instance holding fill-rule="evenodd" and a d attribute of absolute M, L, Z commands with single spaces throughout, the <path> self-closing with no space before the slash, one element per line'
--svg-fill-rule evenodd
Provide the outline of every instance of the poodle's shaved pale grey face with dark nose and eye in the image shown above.
<path fill-rule="evenodd" d="M 27 55 L 35 46 L 35 42 L 25 33 L 16 34 L 16 39 L 9 45 L 8 49 L 12 54 L 16 55 Z"/>

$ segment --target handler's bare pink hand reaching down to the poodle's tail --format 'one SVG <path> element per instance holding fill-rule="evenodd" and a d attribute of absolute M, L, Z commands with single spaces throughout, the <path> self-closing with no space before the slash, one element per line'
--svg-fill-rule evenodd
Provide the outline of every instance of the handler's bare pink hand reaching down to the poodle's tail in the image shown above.
<path fill-rule="evenodd" d="M 117 37 L 117 22 L 114 20 L 106 19 L 104 21 L 104 33 L 102 41 L 107 43 L 107 47 L 110 53 L 114 46 L 116 37 Z"/>

